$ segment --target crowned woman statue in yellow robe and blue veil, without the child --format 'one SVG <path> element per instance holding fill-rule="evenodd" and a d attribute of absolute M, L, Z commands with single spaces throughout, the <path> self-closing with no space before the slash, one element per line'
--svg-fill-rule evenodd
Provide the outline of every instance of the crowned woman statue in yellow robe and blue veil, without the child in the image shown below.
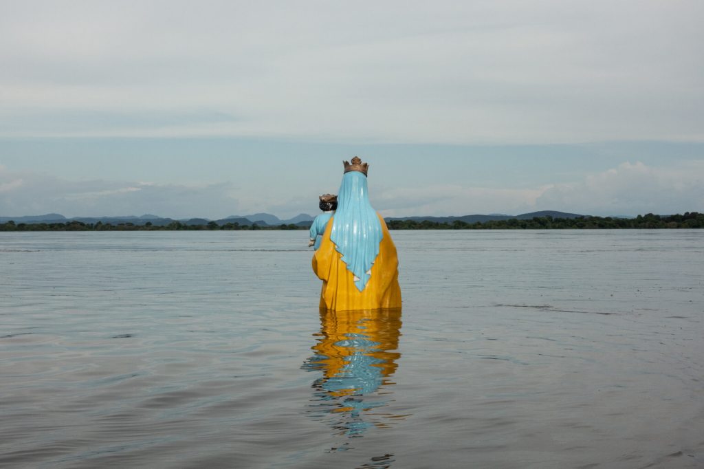
<path fill-rule="evenodd" d="M 343 164 L 337 211 L 313 256 L 313 272 L 322 280 L 320 308 L 400 308 L 396 246 L 384 218 L 369 202 L 369 165 L 357 156 Z"/>

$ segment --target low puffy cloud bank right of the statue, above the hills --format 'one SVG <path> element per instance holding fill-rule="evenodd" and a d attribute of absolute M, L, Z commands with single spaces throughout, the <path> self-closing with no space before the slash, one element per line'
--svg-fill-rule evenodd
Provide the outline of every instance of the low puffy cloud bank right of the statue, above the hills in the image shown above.
<path fill-rule="evenodd" d="M 384 216 L 519 214 L 557 210 L 585 215 L 704 211 L 704 161 L 668 167 L 621 163 L 580 182 L 531 189 L 431 185 L 370 194 Z"/>

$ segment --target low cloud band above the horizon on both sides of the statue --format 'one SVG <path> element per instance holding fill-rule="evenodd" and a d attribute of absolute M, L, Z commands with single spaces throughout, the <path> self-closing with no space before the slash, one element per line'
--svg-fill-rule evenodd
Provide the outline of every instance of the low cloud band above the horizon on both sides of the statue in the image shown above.
<path fill-rule="evenodd" d="M 0 170 L 0 215 L 142 215 L 223 218 L 267 212 L 290 218 L 318 213 L 327 187 L 237 187 L 232 182 L 155 184 L 111 180 L 69 181 L 30 171 Z M 558 210 L 589 215 L 704 212 L 704 161 L 669 166 L 625 162 L 579 182 L 514 189 L 429 184 L 375 187 L 370 200 L 384 216 L 470 215 Z"/>

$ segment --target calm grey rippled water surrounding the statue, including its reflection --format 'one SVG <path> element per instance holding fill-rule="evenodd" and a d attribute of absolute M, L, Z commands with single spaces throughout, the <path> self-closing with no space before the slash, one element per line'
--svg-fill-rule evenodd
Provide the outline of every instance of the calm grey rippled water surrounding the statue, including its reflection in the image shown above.
<path fill-rule="evenodd" d="M 704 467 L 704 230 L 391 234 L 320 315 L 306 232 L 0 233 L 0 466 Z"/>

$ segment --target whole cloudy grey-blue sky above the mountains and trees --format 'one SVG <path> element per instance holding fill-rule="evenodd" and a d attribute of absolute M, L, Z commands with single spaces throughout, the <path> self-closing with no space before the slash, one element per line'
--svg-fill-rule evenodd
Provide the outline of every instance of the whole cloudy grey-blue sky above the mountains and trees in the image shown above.
<path fill-rule="evenodd" d="M 704 211 L 700 0 L 0 0 L 0 215 Z"/>

